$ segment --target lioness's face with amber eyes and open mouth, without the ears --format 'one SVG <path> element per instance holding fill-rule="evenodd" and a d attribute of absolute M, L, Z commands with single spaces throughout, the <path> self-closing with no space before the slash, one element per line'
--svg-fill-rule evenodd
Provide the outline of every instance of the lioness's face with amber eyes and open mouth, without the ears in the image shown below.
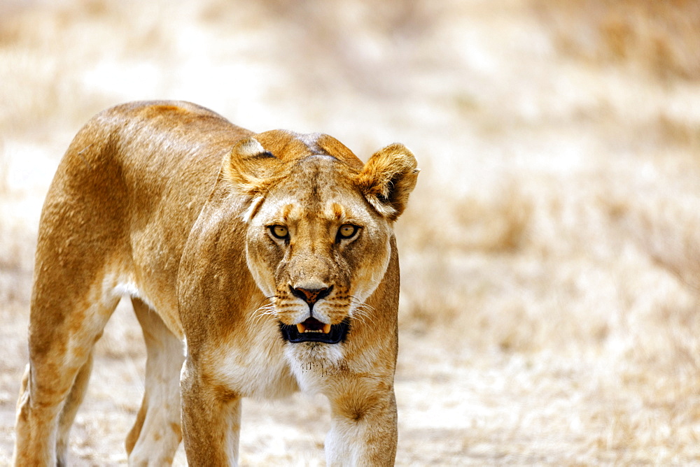
<path fill-rule="evenodd" d="M 384 276 L 391 225 L 332 157 L 297 161 L 248 222 L 248 267 L 291 342 L 337 343 Z"/>

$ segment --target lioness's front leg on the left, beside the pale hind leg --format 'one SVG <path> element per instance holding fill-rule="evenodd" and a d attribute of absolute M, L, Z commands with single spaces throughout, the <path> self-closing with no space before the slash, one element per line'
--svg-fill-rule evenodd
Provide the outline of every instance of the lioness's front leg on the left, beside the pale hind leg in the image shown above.
<path fill-rule="evenodd" d="M 180 380 L 182 428 L 190 466 L 237 466 L 241 401 L 187 362 Z"/>

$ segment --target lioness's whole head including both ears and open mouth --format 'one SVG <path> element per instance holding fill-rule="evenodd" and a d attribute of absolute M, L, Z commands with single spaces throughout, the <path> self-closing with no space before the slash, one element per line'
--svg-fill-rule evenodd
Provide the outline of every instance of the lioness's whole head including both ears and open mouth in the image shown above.
<path fill-rule="evenodd" d="M 384 278 L 412 153 L 390 145 L 363 166 L 330 136 L 269 131 L 237 143 L 223 173 L 248 196 L 248 268 L 283 338 L 342 342 Z"/>

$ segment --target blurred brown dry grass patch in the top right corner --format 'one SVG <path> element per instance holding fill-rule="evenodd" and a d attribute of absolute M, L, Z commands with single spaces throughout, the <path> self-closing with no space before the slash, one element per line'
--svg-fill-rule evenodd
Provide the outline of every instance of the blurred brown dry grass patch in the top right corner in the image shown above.
<path fill-rule="evenodd" d="M 556 45 L 596 63 L 633 62 L 661 78 L 700 79 L 696 0 L 535 0 Z"/>

